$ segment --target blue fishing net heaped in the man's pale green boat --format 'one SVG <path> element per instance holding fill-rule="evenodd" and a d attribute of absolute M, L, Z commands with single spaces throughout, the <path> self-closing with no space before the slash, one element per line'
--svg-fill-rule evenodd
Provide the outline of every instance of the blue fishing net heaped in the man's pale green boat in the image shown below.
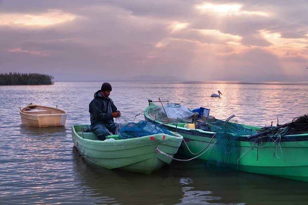
<path fill-rule="evenodd" d="M 120 129 L 120 139 L 130 139 L 135 137 L 142 137 L 155 134 L 171 135 L 171 132 L 162 125 L 153 124 L 147 121 L 140 121 L 138 123 L 130 122 Z"/>

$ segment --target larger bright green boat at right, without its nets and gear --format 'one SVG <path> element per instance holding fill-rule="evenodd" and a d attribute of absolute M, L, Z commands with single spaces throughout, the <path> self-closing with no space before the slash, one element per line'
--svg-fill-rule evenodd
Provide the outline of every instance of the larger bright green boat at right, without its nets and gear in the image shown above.
<path fill-rule="evenodd" d="M 211 141 L 214 132 L 207 132 L 201 129 L 184 128 L 186 123 L 170 124 L 156 120 L 153 115 L 149 114 L 149 110 L 157 107 L 154 103 L 150 103 L 144 110 L 144 118 L 148 122 L 156 122 L 163 124 L 170 131 L 177 132 L 184 137 L 191 152 L 197 153 L 204 149 L 209 143 L 210 146 L 215 143 L 215 137 Z M 260 129 L 243 125 L 245 128 L 252 130 Z M 307 131 L 308 132 L 308 131 Z M 210 142 L 211 141 L 211 142 Z M 236 140 L 239 149 L 235 165 L 240 171 L 247 171 L 257 174 L 272 175 L 282 178 L 295 179 L 308 182 L 308 133 L 298 135 L 284 136 L 280 143 L 280 148 L 274 142 L 253 145 L 247 136 L 241 136 Z M 198 157 L 201 160 L 209 160 L 210 148 L 208 152 Z M 182 143 L 179 153 L 187 157 L 195 157 L 188 151 L 187 146 Z"/>

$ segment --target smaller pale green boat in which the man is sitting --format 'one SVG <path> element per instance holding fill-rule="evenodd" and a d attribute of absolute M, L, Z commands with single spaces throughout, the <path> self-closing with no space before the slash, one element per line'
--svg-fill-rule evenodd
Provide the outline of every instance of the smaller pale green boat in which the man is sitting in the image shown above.
<path fill-rule="evenodd" d="M 118 135 L 109 136 L 112 141 L 99 141 L 92 132 L 82 132 L 83 125 L 72 126 L 74 146 L 88 160 L 108 169 L 151 174 L 172 159 L 156 152 L 156 148 L 173 156 L 178 151 L 183 137 L 171 132 L 132 139 L 120 140 Z"/>

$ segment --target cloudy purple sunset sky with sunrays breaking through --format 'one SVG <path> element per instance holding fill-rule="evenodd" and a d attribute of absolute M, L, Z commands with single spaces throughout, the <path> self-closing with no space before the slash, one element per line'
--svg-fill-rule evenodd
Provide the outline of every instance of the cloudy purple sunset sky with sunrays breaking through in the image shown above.
<path fill-rule="evenodd" d="M 306 67 L 307 0 L 0 0 L 2 73 L 259 82 Z"/>

